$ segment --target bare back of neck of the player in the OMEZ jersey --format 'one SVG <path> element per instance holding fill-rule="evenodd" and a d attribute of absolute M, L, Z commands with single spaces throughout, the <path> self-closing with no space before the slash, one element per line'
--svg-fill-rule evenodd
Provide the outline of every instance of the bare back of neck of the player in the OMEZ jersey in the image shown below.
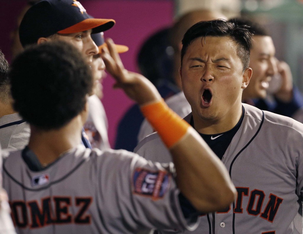
<path fill-rule="evenodd" d="M 55 130 L 41 130 L 31 125 L 28 147 L 41 164 L 50 164 L 62 153 L 81 142 L 82 119 L 78 115 L 67 125 Z"/>

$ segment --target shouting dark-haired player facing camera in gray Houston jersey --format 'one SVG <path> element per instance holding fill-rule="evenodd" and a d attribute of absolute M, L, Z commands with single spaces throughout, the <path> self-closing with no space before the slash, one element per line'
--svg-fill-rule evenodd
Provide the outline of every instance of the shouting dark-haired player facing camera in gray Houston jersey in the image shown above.
<path fill-rule="evenodd" d="M 199 22 L 182 40 L 180 76 L 192 113 L 185 120 L 229 171 L 237 189 L 230 206 L 201 216 L 193 233 L 302 233 L 303 125 L 242 104 L 252 70 L 251 34 L 222 20 Z M 171 157 L 156 133 L 135 152 Z M 160 233 L 188 233 L 159 230 Z"/>

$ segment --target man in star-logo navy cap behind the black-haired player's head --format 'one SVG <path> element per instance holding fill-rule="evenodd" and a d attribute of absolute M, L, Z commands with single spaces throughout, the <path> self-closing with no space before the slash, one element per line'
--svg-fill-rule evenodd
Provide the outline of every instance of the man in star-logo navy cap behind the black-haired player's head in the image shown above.
<path fill-rule="evenodd" d="M 19 27 L 23 47 L 47 41 L 61 40 L 74 45 L 89 64 L 99 49 L 92 40 L 92 33 L 112 28 L 112 19 L 95 19 L 76 0 L 42 0 L 25 13 Z M 91 148 L 88 136 L 82 131 L 82 142 Z"/>

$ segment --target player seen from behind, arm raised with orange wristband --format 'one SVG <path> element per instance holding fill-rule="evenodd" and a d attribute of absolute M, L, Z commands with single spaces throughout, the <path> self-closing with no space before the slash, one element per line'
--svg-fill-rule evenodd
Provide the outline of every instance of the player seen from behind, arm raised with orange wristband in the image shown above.
<path fill-rule="evenodd" d="M 29 47 L 12 63 L 10 77 L 14 108 L 30 124 L 31 137 L 28 147 L 10 153 L 3 164 L 3 187 L 18 233 L 193 230 L 198 211 L 222 209 L 234 199 L 220 160 L 145 77 L 123 68 L 113 44 L 108 47 L 110 54 L 102 59 L 115 86 L 140 104 L 156 129 L 163 124 L 175 129 L 161 135 L 175 168 L 124 150 L 79 145 L 93 86 L 90 68 L 68 43 Z"/>

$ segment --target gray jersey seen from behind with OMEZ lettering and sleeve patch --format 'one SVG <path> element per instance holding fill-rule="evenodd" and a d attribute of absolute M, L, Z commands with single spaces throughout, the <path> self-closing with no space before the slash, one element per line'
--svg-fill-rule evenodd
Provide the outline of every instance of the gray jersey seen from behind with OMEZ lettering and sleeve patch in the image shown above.
<path fill-rule="evenodd" d="M 42 171 L 22 154 L 3 164 L 18 233 L 148 233 L 151 228 L 192 230 L 178 200 L 173 164 L 152 164 L 125 150 L 100 151 L 79 145 Z"/>

